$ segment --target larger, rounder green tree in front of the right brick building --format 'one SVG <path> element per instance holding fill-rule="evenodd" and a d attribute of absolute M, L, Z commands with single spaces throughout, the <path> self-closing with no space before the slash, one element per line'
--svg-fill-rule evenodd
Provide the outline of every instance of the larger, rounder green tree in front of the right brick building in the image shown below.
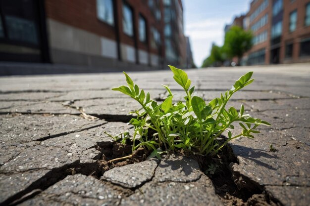
<path fill-rule="evenodd" d="M 243 54 L 251 49 L 253 43 L 251 31 L 245 31 L 241 27 L 232 26 L 225 35 L 224 50 L 229 58 L 238 57 L 240 62 Z"/>

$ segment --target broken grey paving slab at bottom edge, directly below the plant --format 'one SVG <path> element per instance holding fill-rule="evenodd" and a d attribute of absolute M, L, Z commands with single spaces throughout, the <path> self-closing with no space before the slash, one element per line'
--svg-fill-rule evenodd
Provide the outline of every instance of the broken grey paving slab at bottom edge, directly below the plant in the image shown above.
<path fill-rule="evenodd" d="M 170 172 L 174 172 L 173 170 Z M 195 182 L 148 182 L 121 206 L 223 206 L 213 185 L 203 175 Z"/>

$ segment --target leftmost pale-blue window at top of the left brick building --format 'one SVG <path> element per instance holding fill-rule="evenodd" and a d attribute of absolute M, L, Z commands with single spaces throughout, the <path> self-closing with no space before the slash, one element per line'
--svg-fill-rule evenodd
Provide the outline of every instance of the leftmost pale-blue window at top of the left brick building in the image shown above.
<path fill-rule="evenodd" d="M 111 26 L 114 25 L 112 0 L 97 0 L 97 17 Z"/>

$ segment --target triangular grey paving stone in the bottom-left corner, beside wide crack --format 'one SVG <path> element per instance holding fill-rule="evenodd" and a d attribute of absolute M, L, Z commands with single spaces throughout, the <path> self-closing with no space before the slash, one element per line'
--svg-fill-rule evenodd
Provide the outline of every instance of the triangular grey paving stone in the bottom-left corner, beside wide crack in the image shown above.
<path fill-rule="evenodd" d="M 51 170 L 31 170 L 13 174 L 0 174 L 0 204 L 8 198 L 24 191 Z"/>

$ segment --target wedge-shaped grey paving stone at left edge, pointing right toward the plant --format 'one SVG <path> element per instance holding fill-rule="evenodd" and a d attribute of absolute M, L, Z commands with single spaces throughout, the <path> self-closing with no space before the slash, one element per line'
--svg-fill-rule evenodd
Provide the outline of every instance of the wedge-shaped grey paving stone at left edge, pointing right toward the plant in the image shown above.
<path fill-rule="evenodd" d="M 105 123 L 104 120 L 89 121 L 74 115 L 1 115 L 1 147 L 82 130 Z"/>

